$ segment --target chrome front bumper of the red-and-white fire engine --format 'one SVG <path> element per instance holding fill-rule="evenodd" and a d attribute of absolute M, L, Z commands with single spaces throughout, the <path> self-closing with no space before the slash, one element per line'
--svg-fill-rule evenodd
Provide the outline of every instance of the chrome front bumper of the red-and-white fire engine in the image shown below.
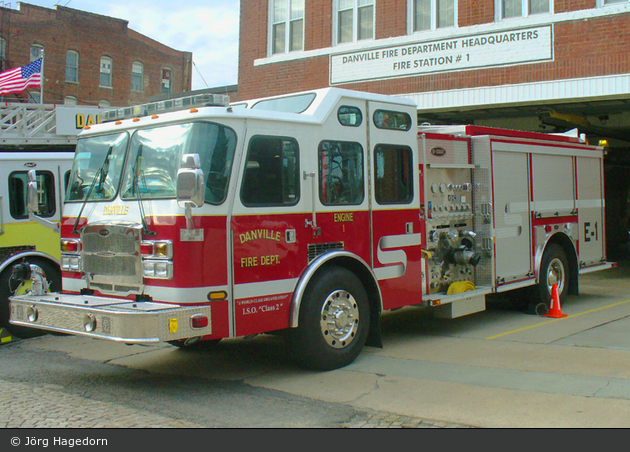
<path fill-rule="evenodd" d="M 18 295 L 10 297 L 10 302 L 13 325 L 116 342 L 157 343 L 212 333 L 210 306 L 54 293 Z M 195 327 L 194 323 L 206 323 L 204 316 L 207 326 Z"/>

